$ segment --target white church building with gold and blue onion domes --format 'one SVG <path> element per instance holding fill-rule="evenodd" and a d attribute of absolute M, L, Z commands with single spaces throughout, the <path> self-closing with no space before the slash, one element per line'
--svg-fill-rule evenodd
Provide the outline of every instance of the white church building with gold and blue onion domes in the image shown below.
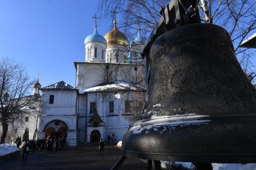
<path fill-rule="evenodd" d="M 105 37 L 95 30 L 85 38 L 85 62 L 74 62 L 76 85 L 64 81 L 40 88 L 37 138 L 64 135 L 67 144 L 117 142 L 138 117 L 145 101 L 144 65 L 139 50 L 145 38 L 129 43 L 114 27 Z"/>

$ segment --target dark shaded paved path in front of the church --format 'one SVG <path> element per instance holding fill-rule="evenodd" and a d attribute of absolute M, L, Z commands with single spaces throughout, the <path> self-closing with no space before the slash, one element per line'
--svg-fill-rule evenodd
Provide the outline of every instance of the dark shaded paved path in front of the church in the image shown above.
<path fill-rule="evenodd" d="M 99 156 L 98 147 L 65 148 L 59 151 L 30 153 L 26 162 L 20 157 L 0 162 L 0 169 L 110 169 L 121 156 L 114 145 L 105 146 L 105 155 Z M 147 169 L 147 163 L 140 159 L 127 158 L 122 169 Z"/>

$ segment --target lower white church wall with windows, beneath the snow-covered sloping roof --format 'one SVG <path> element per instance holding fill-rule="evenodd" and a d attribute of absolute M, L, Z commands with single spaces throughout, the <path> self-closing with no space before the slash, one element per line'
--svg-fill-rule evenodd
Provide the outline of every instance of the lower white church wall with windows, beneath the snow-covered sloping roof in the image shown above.
<path fill-rule="evenodd" d="M 117 95 L 118 93 L 118 95 Z M 130 112 L 125 111 L 125 101 L 136 100 L 144 102 L 144 93 L 136 92 L 100 92 L 100 93 L 88 93 L 87 94 L 87 122 L 90 120 L 92 114 L 90 114 L 90 102 L 96 102 L 97 111 L 99 116 L 105 123 L 103 132 L 101 127 L 87 129 L 87 142 L 90 141 L 90 133 L 92 130 L 97 129 L 100 131 L 101 137 L 106 141 L 108 135 L 114 134 L 116 141 L 123 138 L 124 133 L 135 120 L 132 120 L 130 114 L 139 114 L 140 109 L 137 113 L 131 108 Z M 114 113 L 109 113 L 109 102 L 114 101 Z M 133 107 L 133 103 L 131 104 Z M 102 134 L 103 133 L 103 134 Z"/>

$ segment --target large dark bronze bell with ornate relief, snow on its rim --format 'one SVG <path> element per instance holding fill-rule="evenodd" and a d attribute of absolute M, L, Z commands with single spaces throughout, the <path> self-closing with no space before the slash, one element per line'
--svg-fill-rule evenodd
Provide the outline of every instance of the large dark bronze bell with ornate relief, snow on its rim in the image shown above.
<path fill-rule="evenodd" d="M 147 59 L 148 99 L 124 135 L 124 155 L 200 163 L 256 162 L 256 93 L 225 29 L 166 32 Z"/>

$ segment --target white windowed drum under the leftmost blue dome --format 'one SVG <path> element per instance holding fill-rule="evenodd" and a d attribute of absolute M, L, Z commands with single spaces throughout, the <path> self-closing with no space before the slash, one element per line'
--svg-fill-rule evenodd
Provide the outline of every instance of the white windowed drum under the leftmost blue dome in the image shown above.
<path fill-rule="evenodd" d="M 97 54 L 95 56 L 95 49 Z M 87 42 L 85 44 L 85 62 L 105 62 L 106 45 L 102 42 Z"/>

